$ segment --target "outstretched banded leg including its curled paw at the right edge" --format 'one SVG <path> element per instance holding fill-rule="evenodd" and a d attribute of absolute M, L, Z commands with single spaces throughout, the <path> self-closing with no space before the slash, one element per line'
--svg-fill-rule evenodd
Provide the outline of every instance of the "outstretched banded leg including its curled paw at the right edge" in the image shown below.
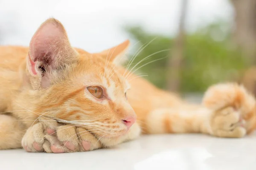
<path fill-rule="evenodd" d="M 243 137 L 255 125 L 255 99 L 236 84 L 212 86 L 204 105 L 157 109 L 145 121 L 147 133 L 207 133 L 219 137 Z"/>

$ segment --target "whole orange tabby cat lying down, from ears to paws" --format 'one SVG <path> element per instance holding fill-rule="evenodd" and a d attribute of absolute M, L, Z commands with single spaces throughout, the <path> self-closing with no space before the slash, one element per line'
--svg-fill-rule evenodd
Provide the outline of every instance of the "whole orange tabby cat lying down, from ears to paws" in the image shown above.
<path fill-rule="evenodd" d="M 128 45 L 90 54 L 49 19 L 29 48 L 0 47 L 0 149 L 76 152 L 141 131 L 243 137 L 256 127 L 256 102 L 243 87 L 212 86 L 203 105 L 190 105 L 129 74 L 120 63 Z"/>

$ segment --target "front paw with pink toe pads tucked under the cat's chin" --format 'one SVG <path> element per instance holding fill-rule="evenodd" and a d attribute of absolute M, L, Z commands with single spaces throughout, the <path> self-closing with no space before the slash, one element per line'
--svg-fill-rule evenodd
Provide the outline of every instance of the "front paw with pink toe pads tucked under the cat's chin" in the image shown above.
<path fill-rule="evenodd" d="M 84 128 L 53 124 L 47 127 L 39 122 L 29 127 L 22 139 L 23 148 L 28 152 L 70 153 L 101 147 L 98 139 Z"/>

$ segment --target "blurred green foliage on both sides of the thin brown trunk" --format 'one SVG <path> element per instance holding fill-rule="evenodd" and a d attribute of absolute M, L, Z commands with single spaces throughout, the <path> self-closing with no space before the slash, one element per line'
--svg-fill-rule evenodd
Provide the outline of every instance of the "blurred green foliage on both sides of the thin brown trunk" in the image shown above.
<path fill-rule="evenodd" d="M 247 68 L 249 62 L 242 57 L 239 49 L 232 46 L 229 26 L 227 23 L 218 22 L 199 28 L 195 32 L 186 33 L 184 58 L 180 68 L 181 93 L 203 92 L 209 85 L 218 82 L 237 81 L 242 71 Z M 137 65 L 136 68 L 139 68 L 151 62 L 136 73 L 146 73 L 148 74 L 146 79 L 160 88 L 166 88 L 167 57 L 172 57 L 169 50 L 172 49 L 175 37 L 152 34 L 140 26 L 126 27 L 125 30 L 132 40 L 137 42 L 132 47 L 131 57 L 136 56 L 133 63 L 138 63 L 145 57 L 162 51 Z M 148 44 L 151 40 L 153 41 Z M 160 59 L 162 57 L 166 58 Z M 160 60 L 152 62 L 155 59 Z M 131 70 L 134 65 L 129 69 Z"/>

